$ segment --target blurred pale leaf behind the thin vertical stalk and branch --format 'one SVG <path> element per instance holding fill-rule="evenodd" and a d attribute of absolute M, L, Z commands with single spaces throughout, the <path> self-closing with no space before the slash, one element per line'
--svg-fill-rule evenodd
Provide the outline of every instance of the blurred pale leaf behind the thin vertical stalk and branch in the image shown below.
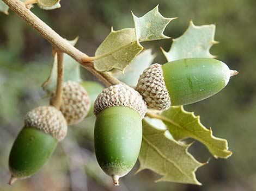
<path fill-rule="evenodd" d="M 75 46 L 78 37 L 72 41 L 68 41 L 72 46 Z M 80 82 L 80 65 L 72 59 L 68 54 L 64 54 L 63 58 L 64 65 L 64 81 L 77 81 Z M 47 92 L 55 90 L 57 84 L 57 54 L 54 55 L 50 77 L 42 84 L 42 88 Z"/>

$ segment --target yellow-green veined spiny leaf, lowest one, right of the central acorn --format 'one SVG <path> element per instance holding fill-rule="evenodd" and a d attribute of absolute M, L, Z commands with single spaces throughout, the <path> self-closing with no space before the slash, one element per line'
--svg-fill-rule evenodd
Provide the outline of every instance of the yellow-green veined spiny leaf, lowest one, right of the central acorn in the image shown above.
<path fill-rule="evenodd" d="M 160 181 L 198 184 L 195 171 L 203 165 L 181 144 L 166 137 L 166 130 L 157 130 L 143 120 L 142 147 L 139 154 L 141 164 L 138 171 L 150 169 L 162 175 Z"/>

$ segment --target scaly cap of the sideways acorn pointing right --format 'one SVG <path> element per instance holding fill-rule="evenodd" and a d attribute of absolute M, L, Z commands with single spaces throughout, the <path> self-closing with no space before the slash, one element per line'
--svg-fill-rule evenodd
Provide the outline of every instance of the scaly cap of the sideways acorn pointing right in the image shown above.
<path fill-rule="evenodd" d="M 163 79 L 162 66 L 154 63 L 140 75 L 136 90 L 141 93 L 149 109 L 168 110 L 170 95 Z"/>

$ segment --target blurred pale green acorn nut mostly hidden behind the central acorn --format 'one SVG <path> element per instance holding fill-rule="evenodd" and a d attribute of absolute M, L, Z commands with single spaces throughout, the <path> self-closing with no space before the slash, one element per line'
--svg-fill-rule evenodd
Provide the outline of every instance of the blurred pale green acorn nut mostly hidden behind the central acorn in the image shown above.
<path fill-rule="evenodd" d="M 102 92 L 104 87 L 96 81 L 82 81 L 81 85 L 87 91 L 90 98 L 91 103 L 90 103 L 90 109 L 87 116 L 91 116 L 93 114 L 94 101 L 97 98 L 97 95 L 99 95 L 100 92 Z"/>

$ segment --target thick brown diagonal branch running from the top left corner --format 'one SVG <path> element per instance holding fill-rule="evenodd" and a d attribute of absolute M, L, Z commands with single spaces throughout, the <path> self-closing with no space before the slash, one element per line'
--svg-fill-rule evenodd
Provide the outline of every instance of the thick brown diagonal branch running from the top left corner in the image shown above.
<path fill-rule="evenodd" d="M 60 50 L 63 53 L 70 55 L 75 59 L 81 66 L 88 69 L 92 74 L 94 74 L 100 81 L 102 81 L 106 86 L 111 86 L 115 84 L 120 84 L 121 82 L 114 78 L 108 72 L 97 72 L 94 69 L 93 61 L 84 62 L 85 58 L 89 56 L 82 53 L 77 48 L 69 44 L 63 37 L 61 37 L 56 31 L 49 27 L 45 22 L 40 20 L 39 17 L 33 14 L 32 11 L 26 8 L 26 5 L 19 0 L 2 0 L 5 4 L 9 6 L 11 10 L 16 12 L 23 20 L 29 23 L 34 29 L 36 29 L 42 37 L 49 41 L 53 48 Z"/>

